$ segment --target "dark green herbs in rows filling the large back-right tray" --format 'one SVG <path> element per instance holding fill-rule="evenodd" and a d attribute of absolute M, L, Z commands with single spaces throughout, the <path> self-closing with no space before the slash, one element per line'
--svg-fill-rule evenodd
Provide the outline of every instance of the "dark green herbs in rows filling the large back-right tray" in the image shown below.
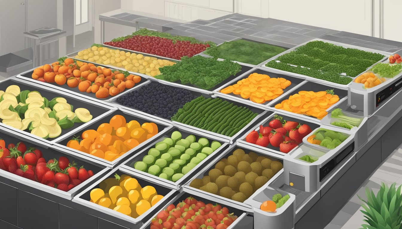
<path fill-rule="evenodd" d="M 352 79 L 340 74 L 346 73 L 350 77 L 356 77 L 382 58 L 384 55 L 379 53 L 344 48 L 323 41 L 312 41 L 295 51 L 281 55 L 266 66 L 333 83 L 348 84 Z"/>

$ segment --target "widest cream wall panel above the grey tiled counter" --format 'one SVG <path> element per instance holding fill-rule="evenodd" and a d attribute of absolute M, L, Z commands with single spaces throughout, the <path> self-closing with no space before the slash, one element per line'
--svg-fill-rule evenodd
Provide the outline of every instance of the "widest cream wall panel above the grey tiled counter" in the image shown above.
<path fill-rule="evenodd" d="M 254 1 L 258 0 L 251 2 Z M 390 0 L 384 0 L 387 1 Z M 308 4 L 300 0 L 270 0 L 268 8 L 262 10 L 269 10 L 270 18 L 371 35 L 371 0 L 309 0 Z"/>

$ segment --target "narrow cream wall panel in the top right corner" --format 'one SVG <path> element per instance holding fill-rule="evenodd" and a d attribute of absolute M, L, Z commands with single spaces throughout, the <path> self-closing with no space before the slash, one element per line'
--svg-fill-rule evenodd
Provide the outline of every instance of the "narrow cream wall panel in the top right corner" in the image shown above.
<path fill-rule="evenodd" d="M 384 1 L 384 39 L 402 42 L 402 30 L 398 20 L 401 8 L 400 0 Z"/>

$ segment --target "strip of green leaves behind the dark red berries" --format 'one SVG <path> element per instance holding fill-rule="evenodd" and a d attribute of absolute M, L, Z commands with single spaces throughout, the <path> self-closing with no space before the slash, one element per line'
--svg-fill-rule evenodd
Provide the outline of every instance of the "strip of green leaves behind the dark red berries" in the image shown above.
<path fill-rule="evenodd" d="M 190 36 L 174 36 L 170 33 L 167 32 L 159 32 L 159 31 L 154 31 L 154 30 L 148 30 L 146 28 L 142 28 L 140 30 L 137 30 L 135 32 L 133 32 L 130 35 L 127 36 L 121 36 L 118 38 L 115 38 L 112 40 L 112 42 L 117 42 L 117 41 L 124 41 L 125 39 L 129 39 L 133 36 L 156 36 L 156 37 L 161 37 L 161 38 L 166 38 L 166 39 L 170 39 L 173 40 L 173 43 L 176 43 L 177 41 L 190 41 L 191 44 L 205 44 L 205 45 L 209 45 L 211 47 L 216 46 L 215 43 L 211 42 L 211 41 L 207 41 L 207 42 L 202 42 L 202 41 L 198 41 L 197 39 L 190 37 Z"/>

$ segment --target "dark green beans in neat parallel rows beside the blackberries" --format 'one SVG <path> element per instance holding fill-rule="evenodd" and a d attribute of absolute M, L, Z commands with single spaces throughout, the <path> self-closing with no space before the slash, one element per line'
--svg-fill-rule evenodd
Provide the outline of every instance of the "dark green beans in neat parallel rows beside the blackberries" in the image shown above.
<path fill-rule="evenodd" d="M 232 137 L 251 122 L 258 113 L 247 107 L 234 105 L 220 98 L 203 96 L 186 103 L 172 116 L 172 120 L 203 130 Z"/>

